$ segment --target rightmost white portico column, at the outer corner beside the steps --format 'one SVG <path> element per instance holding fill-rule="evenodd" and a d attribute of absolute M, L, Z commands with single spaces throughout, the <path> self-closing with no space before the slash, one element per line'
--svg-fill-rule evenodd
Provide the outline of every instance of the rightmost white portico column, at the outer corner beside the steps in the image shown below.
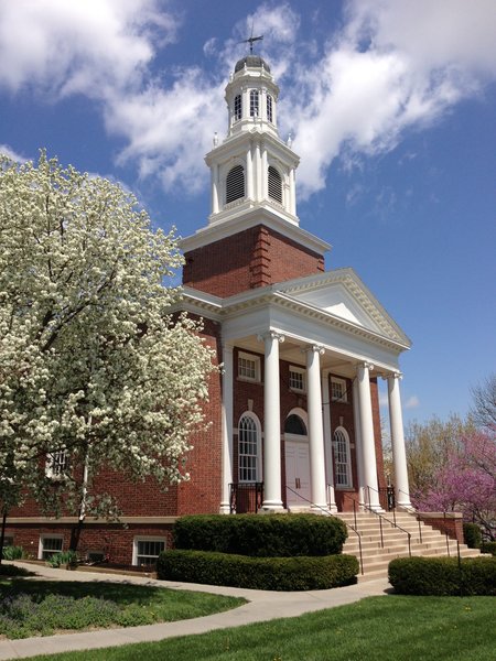
<path fill-rule="evenodd" d="M 401 375 L 399 372 L 388 377 L 389 424 L 391 427 L 392 463 L 395 466 L 396 505 L 405 509 L 411 509 L 407 453 L 405 449 L 403 416 L 401 413 L 400 379 Z"/>

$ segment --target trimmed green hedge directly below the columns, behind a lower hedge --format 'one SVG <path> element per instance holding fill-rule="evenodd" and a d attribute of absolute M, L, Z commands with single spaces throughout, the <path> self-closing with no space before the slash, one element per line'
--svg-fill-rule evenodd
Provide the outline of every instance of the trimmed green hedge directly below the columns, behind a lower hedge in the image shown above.
<path fill-rule="evenodd" d="M 316 514 L 197 514 L 174 524 L 175 549 L 257 557 L 293 557 L 341 553 L 346 524 Z"/>

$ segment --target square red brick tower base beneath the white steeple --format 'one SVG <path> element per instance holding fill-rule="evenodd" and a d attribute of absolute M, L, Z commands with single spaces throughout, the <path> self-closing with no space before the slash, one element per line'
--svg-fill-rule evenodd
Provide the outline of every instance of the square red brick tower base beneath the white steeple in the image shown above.
<path fill-rule="evenodd" d="M 324 257 L 262 225 L 185 253 L 183 284 L 227 297 L 324 272 Z"/>

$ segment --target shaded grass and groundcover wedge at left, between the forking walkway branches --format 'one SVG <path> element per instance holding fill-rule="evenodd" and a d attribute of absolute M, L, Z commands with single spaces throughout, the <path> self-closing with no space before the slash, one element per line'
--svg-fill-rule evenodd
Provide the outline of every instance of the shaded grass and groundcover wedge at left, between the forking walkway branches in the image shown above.
<path fill-rule="evenodd" d="M 132 627 L 219 613 L 245 599 L 131 583 L 26 581 L 0 571 L 0 636 Z M 22 572 L 18 574 L 22 575 Z"/>

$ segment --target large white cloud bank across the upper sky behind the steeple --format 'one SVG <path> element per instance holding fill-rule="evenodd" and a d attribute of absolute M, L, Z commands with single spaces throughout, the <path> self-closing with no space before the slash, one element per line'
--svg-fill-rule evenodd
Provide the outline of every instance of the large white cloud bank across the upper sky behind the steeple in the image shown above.
<path fill-rule="evenodd" d="M 123 138 L 119 162 L 141 176 L 195 192 L 206 184 L 203 155 L 226 130 L 223 88 L 254 26 L 257 52 L 281 85 L 281 137 L 291 130 L 301 155 L 299 193 L 325 186 L 339 158 L 355 167 L 392 149 L 409 128 L 439 120 L 496 78 L 493 0 L 349 0 L 325 43 L 301 34 L 299 3 L 261 3 L 224 44 L 204 53 L 214 73 L 153 75 L 158 50 L 179 39 L 182 17 L 163 0 L 22 0 L 0 3 L 0 87 L 50 101 L 84 94 L 98 101 L 106 128 Z M 325 7 L 325 3 L 324 3 Z M 324 11 L 324 9 L 322 9 Z M 214 61 L 215 62 L 215 61 Z M 171 72 L 168 72 L 170 75 Z M 353 203 L 353 198 L 348 201 Z"/>

